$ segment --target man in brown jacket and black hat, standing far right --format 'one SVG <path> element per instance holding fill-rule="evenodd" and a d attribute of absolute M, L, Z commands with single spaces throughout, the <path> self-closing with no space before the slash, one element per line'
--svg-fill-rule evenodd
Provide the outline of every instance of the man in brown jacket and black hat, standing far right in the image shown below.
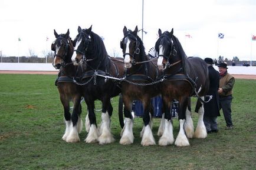
<path fill-rule="evenodd" d="M 233 94 L 233 86 L 235 84 L 235 78 L 228 73 L 227 64 L 220 63 L 219 68 L 219 109 L 222 109 L 224 118 L 227 124 L 226 129 L 232 129 L 232 118 L 231 118 L 231 102 Z"/>

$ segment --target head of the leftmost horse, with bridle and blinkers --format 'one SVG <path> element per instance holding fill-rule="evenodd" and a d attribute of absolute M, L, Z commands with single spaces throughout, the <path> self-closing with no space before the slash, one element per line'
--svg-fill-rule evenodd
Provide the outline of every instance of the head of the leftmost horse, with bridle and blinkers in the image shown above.
<path fill-rule="evenodd" d="M 56 40 L 51 44 L 51 50 L 54 51 L 54 61 L 52 66 L 55 69 L 60 69 L 61 66 L 71 62 L 71 56 L 74 52 L 73 41 L 70 38 L 70 31 L 68 29 L 66 34 L 57 34 L 54 29 Z"/>

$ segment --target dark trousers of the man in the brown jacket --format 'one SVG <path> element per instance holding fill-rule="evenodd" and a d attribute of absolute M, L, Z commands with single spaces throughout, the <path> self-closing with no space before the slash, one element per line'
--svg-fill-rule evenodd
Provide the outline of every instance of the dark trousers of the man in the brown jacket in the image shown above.
<path fill-rule="evenodd" d="M 219 97 L 219 109 L 222 109 L 227 126 L 233 126 L 231 118 L 232 95 Z"/>

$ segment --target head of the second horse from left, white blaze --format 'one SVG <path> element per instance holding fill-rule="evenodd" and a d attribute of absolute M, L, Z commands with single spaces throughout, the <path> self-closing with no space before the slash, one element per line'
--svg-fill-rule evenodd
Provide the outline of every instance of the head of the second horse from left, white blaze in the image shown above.
<path fill-rule="evenodd" d="M 92 25 L 88 29 L 81 29 L 81 27 L 78 26 L 78 35 L 73 42 L 74 51 L 76 51 L 72 56 L 74 65 L 83 64 L 83 61 L 86 61 L 87 50 L 91 42 L 91 27 Z"/>

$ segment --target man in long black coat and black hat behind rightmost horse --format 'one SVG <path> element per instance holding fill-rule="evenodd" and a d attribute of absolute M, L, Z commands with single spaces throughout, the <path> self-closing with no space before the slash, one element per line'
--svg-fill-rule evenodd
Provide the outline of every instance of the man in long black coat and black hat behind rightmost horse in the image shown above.
<path fill-rule="evenodd" d="M 207 133 L 218 132 L 217 116 L 219 114 L 219 72 L 214 69 L 212 64 L 214 61 L 211 58 L 205 58 L 205 62 L 208 65 L 209 70 L 209 90 L 206 95 L 212 95 L 211 101 L 204 104 L 204 124 Z"/>

